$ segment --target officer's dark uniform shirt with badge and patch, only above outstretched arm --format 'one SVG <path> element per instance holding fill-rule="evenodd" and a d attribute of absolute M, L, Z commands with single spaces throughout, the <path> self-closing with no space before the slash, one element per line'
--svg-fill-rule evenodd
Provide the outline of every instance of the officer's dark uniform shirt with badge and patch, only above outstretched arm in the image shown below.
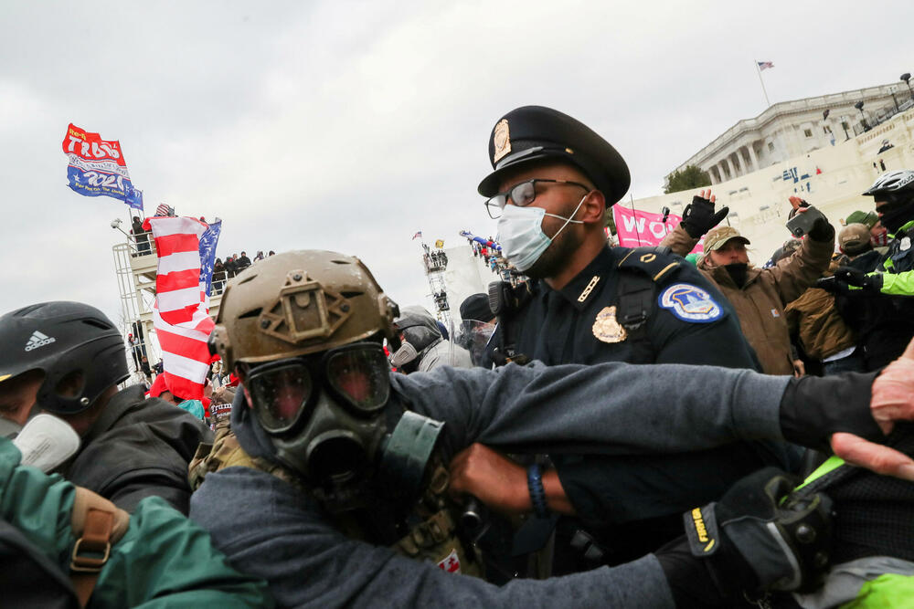
<path fill-rule="evenodd" d="M 537 282 L 533 298 L 509 321 L 515 351 L 549 365 L 678 362 L 759 370 L 736 313 L 717 288 L 681 257 L 645 249 L 606 247 L 563 289 Z M 654 286 L 645 299 L 653 310 L 645 311 L 643 338 L 624 328 L 612 332 L 613 318 L 622 324 L 623 275 Z"/>

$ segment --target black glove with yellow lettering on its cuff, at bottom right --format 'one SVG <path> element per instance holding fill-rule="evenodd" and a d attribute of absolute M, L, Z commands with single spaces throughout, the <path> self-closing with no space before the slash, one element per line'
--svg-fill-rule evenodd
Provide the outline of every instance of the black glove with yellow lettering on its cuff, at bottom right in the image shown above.
<path fill-rule="evenodd" d="M 807 590 L 819 583 L 829 559 L 832 500 L 822 493 L 791 495 L 797 482 L 765 467 L 716 503 L 685 513 L 692 556 L 705 562 L 723 597 Z"/>

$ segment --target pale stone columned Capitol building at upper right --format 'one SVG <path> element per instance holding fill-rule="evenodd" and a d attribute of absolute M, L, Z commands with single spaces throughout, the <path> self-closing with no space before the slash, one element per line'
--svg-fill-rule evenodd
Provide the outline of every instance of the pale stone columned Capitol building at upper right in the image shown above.
<path fill-rule="evenodd" d="M 861 193 L 880 173 L 914 169 L 914 100 L 899 82 L 776 103 L 737 122 L 678 169 L 687 165 L 710 175 L 717 205 L 730 208 L 726 221 L 749 238 L 749 258 L 761 265 L 791 236 L 784 227 L 790 196 L 815 205 L 840 228 L 855 210 L 873 209 L 872 197 Z M 698 190 L 631 205 L 682 215 Z"/>

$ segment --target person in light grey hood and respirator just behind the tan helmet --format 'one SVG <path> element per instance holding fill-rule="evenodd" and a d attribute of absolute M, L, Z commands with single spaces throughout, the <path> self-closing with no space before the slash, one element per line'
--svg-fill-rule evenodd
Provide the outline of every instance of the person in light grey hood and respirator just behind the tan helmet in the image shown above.
<path fill-rule="evenodd" d="M 390 355 L 390 365 L 403 373 L 427 373 L 438 366 L 470 368 L 470 352 L 445 339 L 438 322 L 424 307 L 404 307 L 394 320 L 399 331 L 399 349 Z"/>

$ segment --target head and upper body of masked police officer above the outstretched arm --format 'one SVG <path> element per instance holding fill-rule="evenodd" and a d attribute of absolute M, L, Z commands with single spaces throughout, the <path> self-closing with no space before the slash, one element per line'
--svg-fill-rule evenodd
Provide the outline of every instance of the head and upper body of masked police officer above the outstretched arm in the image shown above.
<path fill-rule="evenodd" d="M 506 356 L 753 367 L 727 301 L 694 267 L 668 250 L 607 246 L 605 213 L 630 183 L 609 142 L 557 110 L 526 106 L 495 123 L 489 158 L 494 171 L 478 190 L 502 252 L 537 279 L 526 304 L 499 319 Z"/>

